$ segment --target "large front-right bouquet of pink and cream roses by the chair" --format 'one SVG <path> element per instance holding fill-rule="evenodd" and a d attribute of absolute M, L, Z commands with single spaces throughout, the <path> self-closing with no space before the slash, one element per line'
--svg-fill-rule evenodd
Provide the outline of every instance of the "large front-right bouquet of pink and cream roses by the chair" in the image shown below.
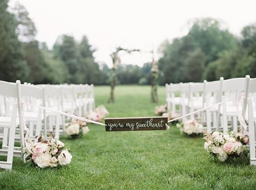
<path fill-rule="evenodd" d="M 238 132 L 204 132 L 204 149 L 219 161 L 246 158 L 249 153 L 249 137 Z"/>

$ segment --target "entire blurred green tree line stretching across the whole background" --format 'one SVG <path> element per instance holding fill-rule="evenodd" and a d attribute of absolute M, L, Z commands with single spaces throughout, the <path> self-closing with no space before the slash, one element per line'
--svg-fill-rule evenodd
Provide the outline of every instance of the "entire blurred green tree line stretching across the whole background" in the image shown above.
<path fill-rule="evenodd" d="M 236 37 L 216 19 L 194 19 L 187 35 L 159 47 L 159 84 L 256 77 L 256 24 Z M 49 49 L 35 39 L 37 29 L 23 5 L 0 1 L 0 80 L 30 83 L 94 83 L 107 85 L 111 69 L 97 63 L 88 38 L 60 35 Z M 149 84 L 151 65 L 120 65 L 119 84 Z"/>

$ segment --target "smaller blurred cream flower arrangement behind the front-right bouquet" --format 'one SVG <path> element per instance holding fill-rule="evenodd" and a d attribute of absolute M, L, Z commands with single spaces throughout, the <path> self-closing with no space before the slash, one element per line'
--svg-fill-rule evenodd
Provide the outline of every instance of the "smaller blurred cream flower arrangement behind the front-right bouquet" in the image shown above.
<path fill-rule="evenodd" d="M 203 125 L 197 122 L 194 118 L 189 119 L 184 123 L 177 123 L 176 127 L 178 127 L 180 131 L 185 133 L 187 136 L 198 136 L 203 133 Z"/>

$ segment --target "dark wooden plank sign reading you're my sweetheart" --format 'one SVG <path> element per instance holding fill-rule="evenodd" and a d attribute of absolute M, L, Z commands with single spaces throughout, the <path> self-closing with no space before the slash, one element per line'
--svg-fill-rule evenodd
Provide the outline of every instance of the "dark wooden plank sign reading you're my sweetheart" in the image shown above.
<path fill-rule="evenodd" d="M 105 118 L 106 132 L 167 130 L 167 117 Z"/>

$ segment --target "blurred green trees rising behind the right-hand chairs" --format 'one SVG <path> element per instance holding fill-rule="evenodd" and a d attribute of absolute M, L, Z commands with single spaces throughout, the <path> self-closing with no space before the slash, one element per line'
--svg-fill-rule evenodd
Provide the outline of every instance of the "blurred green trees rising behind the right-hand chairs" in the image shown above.
<path fill-rule="evenodd" d="M 160 83 L 256 77 L 256 24 L 236 37 L 216 19 L 194 19 L 187 35 L 159 47 Z"/>

